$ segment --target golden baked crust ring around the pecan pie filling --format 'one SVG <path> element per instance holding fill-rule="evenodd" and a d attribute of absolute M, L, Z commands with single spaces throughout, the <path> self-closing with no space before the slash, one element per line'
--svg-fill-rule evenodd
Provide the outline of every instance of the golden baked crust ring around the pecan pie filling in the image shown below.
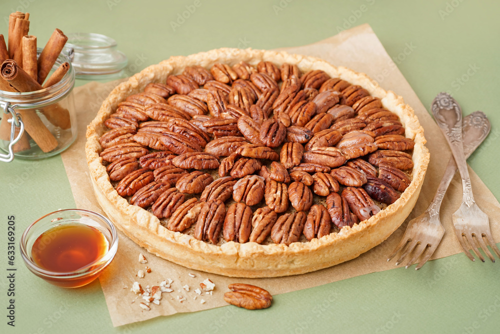
<path fill-rule="evenodd" d="M 303 73 L 323 70 L 332 78 L 339 77 L 359 85 L 371 96 L 380 98 L 384 108 L 399 116 L 406 130 L 405 136 L 415 142 L 411 184 L 399 199 L 371 218 L 352 227 L 344 226 L 338 233 L 314 238 L 309 242 L 294 242 L 289 246 L 233 241 L 220 246 L 209 244 L 187 234 L 172 232 L 163 227 L 152 213 L 128 204 L 114 190 L 99 157 L 102 148 L 98 139 L 106 131 L 104 121 L 117 104 L 129 95 L 142 92 L 148 83 L 164 83 L 167 76 L 181 74 L 186 66 L 210 68 L 215 63 L 233 66 L 240 61 L 253 66 L 260 61 L 270 61 L 278 67 L 289 63 L 297 65 Z M 411 107 L 404 104 L 400 96 L 380 88 L 364 73 L 334 67 L 314 57 L 252 49 L 217 49 L 187 57 L 171 57 L 147 67 L 109 94 L 95 119 L 88 125 L 86 138 L 85 153 L 95 195 L 102 209 L 123 233 L 139 246 L 164 259 L 192 269 L 233 277 L 276 277 L 306 273 L 353 259 L 380 244 L 413 209 L 429 162 L 423 128 Z"/>

